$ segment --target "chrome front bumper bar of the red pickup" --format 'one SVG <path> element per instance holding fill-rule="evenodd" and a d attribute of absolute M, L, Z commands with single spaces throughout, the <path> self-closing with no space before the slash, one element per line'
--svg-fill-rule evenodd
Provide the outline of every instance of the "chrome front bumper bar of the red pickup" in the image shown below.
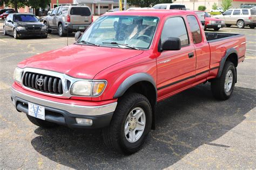
<path fill-rule="evenodd" d="M 80 105 L 58 103 L 56 101 L 50 101 L 50 100 L 45 100 L 42 98 L 30 96 L 28 94 L 19 92 L 14 88 L 11 89 L 11 97 L 15 105 L 18 99 L 23 99 L 31 103 L 56 108 L 58 110 L 63 110 L 75 115 L 90 115 L 90 116 L 103 115 L 103 114 L 114 112 L 114 110 L 116 110 L 116 107 L 117 107 L 117 102 L 107 104 L 107 105 L 102 105 L 102 106 L 80 106 Z"/>

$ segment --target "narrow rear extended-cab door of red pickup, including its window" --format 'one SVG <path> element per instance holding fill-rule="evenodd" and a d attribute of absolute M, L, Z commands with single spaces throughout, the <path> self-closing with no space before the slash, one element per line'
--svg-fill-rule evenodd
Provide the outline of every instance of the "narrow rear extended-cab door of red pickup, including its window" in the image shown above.
<path fill-rule="evenodd" d="M 203 33 L 200 29 L 200 21 L 193 15 L 187 16 L 189 29 L 191 32 L 192 42 L 196 49 L 197 66 L 196 66 L 196 82 L 208 77 L 209 65 L 210 65 L 210 46 L 207 40 L 204 38 Z"/>

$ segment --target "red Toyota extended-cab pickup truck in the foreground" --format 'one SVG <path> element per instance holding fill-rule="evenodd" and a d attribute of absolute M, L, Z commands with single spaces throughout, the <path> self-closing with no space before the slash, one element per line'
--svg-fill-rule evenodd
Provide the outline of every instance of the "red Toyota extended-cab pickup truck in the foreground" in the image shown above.
<path fill-rule="evenodd" d="M 154 129 L 159 101 L 206 81 L 228 99 L 245 43 L 205 33 L 191 11 L 107 13 L 75 44 L 19 63 L 11 100 L 37 126 L 102 128 L 107 146 L 134 153 Z"/>

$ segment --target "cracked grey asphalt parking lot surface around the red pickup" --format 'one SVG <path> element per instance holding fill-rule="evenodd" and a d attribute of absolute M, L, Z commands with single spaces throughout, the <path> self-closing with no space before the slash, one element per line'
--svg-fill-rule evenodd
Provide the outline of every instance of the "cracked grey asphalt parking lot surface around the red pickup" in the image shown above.
<path fill-rule="evenodd" d="M 157 129 L 144 147 L 120 155 L 104 146 L 100 131 L 43 130 L 15 110 L 10 86 L 17 63 L 64 47 L 67 38 L 56 32 L 47 39 L 16 40 L 3 36 L 0 22 L 0 169 L 255 169 L 256 29 L 233 26 L 219 32 L 246 35 L 246 60 L 238 66 L 233 96 L 217 101 L 206 83 L 162 101 Z M 73 34 L 68 42 L 75 42 Z"/>

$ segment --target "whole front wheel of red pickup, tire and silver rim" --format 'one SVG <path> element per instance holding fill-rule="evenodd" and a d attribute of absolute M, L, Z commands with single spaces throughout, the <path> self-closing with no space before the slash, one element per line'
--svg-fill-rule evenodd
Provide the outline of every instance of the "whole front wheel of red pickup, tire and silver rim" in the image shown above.
<path fill-rule="evenodd" d="M 120 153 L 137 152 L 150 132 L 151 124 L 149 100 L 139 93 L 127 94 L 118 102 L 109 127 L 103 130 L 104 142 Z"/>

